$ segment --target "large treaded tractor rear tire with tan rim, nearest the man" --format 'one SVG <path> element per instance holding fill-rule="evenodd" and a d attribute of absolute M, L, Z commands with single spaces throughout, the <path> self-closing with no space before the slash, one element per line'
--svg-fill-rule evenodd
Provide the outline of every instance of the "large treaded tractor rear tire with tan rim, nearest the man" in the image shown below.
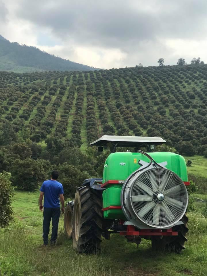
<path fill-rule="evenodd" d="M 102 193 L 88 186 L 78 188 L 73 208 L 73 247 L 78 253 L 96 253 L 102 234 Z"/>

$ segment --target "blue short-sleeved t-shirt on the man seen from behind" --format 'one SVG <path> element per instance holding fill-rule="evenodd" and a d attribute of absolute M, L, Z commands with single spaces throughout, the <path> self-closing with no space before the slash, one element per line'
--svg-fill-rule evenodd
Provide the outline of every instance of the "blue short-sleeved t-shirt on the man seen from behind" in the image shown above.
<path fill-rule="evenodd" d="M 59 195 L 63 194 L 63 186 L 56 180 L 46 180 L 40 188 L 44 193 L 44 207 L 57 208 L 60 207 Z"/>

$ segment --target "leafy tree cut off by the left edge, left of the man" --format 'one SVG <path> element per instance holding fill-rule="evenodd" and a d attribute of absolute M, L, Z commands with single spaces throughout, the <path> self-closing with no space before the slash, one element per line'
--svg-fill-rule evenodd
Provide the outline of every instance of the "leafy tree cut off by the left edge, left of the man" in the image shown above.
<path fill-rule="evenodd" d="M 9 225 L 12 220 L 13 211 L 11 201 L 13 197 L 13 187 L 10 182 L 11 174 L 3 171 L 0 173 L 0 227 Z"/>

